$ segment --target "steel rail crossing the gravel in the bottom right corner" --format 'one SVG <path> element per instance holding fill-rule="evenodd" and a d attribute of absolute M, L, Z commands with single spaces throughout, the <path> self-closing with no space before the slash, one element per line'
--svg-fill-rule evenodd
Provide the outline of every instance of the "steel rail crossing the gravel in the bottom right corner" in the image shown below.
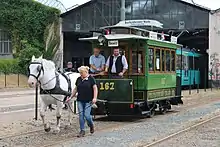
<path fill-rule="evenodd" d="M 215 119 L 218 119 L 218 118 L 220 118 L 220 114 L 218 114 L 218 115 L 216 115 L 216 116 L 213 116 L 213 117 L 211 117 L 211 118 L 208 118 L 208 119 L 206 119 L 206 120 L 204 120 L 204 121 L 201 121 L 201 122 L 199 122 L 199 123 L 196 123 L 196 124 L 194 124 L 194 125 L 192 125 L 192 126 L 189 126 L 189 127 L 185 128 L 185 129 L 182 129 L 182 130 L 180 130 L 180 131 L 178 131 L 178 132 L 172 133 L 172 134 L 170 134 L 170 135 L 168 135 L 168 136 L 166 136 L 166 137 L 164 137 L 164 138 L 162 138 L 162 139 L 159 139 L 159 140 L 156 140 L 156 141 L 154 141 L 154 142 L 151 142 L 150 144 L 139 145 L 138 147 L 153 147 L 153 146 L 156 146 L 157 144 L 160 144 L 160 143 L 162 143 L 162 142 L 165 142 L 165 141 L 167 141 L 167 140 L 169 140 L 169 139 L 171 139 L 171 138 L 173 138 L 173 137 L 176 137 L 176 136 L 178 136 L 178 135 L 181 135 L 181 134 L 184 133 L 184 132 L 187 132 L 187 131 L 189 131 L 189 130 L 195 129 L 195 128 L 197 128 L 197 127 L 203 125 L 203 124 L 209 123 L 210 121 L 215 120 Z"/>

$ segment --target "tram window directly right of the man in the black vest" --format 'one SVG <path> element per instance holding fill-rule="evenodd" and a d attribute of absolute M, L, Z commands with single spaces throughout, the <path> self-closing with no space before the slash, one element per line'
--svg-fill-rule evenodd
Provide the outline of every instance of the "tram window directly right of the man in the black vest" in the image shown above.
<path fill-rule="evenodd" d="M 132 51 L 132 73 L 143 73 L 142 51 Z"/>

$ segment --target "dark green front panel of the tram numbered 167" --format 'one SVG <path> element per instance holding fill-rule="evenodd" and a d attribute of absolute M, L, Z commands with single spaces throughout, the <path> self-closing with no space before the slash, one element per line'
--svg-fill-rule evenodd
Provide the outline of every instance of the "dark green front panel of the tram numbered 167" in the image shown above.
<path fill-rule="evenodd" d="M 96 79 L 99 94 L 95 115 L 130 115 L 134 113 L 133 80 Z"/>

